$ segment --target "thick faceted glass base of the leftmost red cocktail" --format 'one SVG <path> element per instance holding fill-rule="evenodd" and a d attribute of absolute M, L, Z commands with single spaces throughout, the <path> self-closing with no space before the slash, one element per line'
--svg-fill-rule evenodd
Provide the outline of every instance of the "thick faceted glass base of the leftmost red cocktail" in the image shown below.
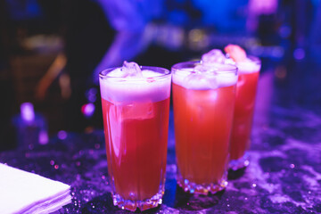
<path fill-rule="evenodd" d="M 162 203 L 162 196 L 164 191 L 161 190 L 159 193 L 152 196 L 151 199 L 143 201 L 133 201 L 123 199 L 118 193 L 112 193 L 112 201 L 115 206 L 118 206 L 122 210 L 136 211 L 137 208 L 141 211 L 158 207 Z"/>

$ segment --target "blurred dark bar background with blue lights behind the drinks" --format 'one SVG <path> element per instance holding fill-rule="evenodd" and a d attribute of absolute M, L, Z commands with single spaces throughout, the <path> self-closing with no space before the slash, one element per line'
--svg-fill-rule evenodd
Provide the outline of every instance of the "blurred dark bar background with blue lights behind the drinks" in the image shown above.
<path fill-rule="evenodd" d="M 321 0 L 1 0 L 0 151 L 103 128 L 98 73 L 125 60 L 170 69 L 233 43 L 282 79 L 321 63 L 320 26 Z"/>

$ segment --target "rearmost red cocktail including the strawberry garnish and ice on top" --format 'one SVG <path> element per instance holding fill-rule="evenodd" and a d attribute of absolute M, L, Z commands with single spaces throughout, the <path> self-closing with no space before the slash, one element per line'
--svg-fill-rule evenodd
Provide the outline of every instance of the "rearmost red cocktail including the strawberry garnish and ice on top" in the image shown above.
<path fill-rule="evenodd" d="M 239 45 L 226 45 L 225 51 L 226 55 L 213 49 L 202 55 L 202 62 L 209 66 L 212 63 L 235 64 L 238 68 L 229 163 L 229 167 L 236 170 L 249 164 L 246 151 L 250 147 L 260 61 L 256 57 L 248 57 Z"/>

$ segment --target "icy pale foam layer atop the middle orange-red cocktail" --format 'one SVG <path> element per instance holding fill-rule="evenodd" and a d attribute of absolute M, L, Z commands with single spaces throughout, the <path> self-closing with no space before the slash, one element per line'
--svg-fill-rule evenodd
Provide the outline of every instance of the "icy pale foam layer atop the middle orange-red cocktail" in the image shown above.
<path fill-rule="evenodd" d="M 193 90 L 209 90 L 218 87 L 233 86 L 237 82 L 237 75 L 235 75 L 233 71 L 235 67 L 232 65 L 221 63 L 202 65 L 201 63 L 194 63 L 194 68 L 176 69 L 174 66 L 173 68 L 176 71 L 173 74 L 173 82 L 179 86 Z"/>

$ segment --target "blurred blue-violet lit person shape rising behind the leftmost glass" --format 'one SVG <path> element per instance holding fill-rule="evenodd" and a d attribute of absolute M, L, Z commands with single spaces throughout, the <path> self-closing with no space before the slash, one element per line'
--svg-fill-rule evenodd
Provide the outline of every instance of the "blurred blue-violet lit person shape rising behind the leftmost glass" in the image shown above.
<path fill-rule="evenodd" d="M 120 66 L 143 53 L 152 41 L 148 24 L 160 18 L 163 0 L 97 0 L 106 19 L 116 30 L 114 40 L 104 54 L 102 61 L 94 70 L 94 82 L 97 84 L 99 72 Z"/>

